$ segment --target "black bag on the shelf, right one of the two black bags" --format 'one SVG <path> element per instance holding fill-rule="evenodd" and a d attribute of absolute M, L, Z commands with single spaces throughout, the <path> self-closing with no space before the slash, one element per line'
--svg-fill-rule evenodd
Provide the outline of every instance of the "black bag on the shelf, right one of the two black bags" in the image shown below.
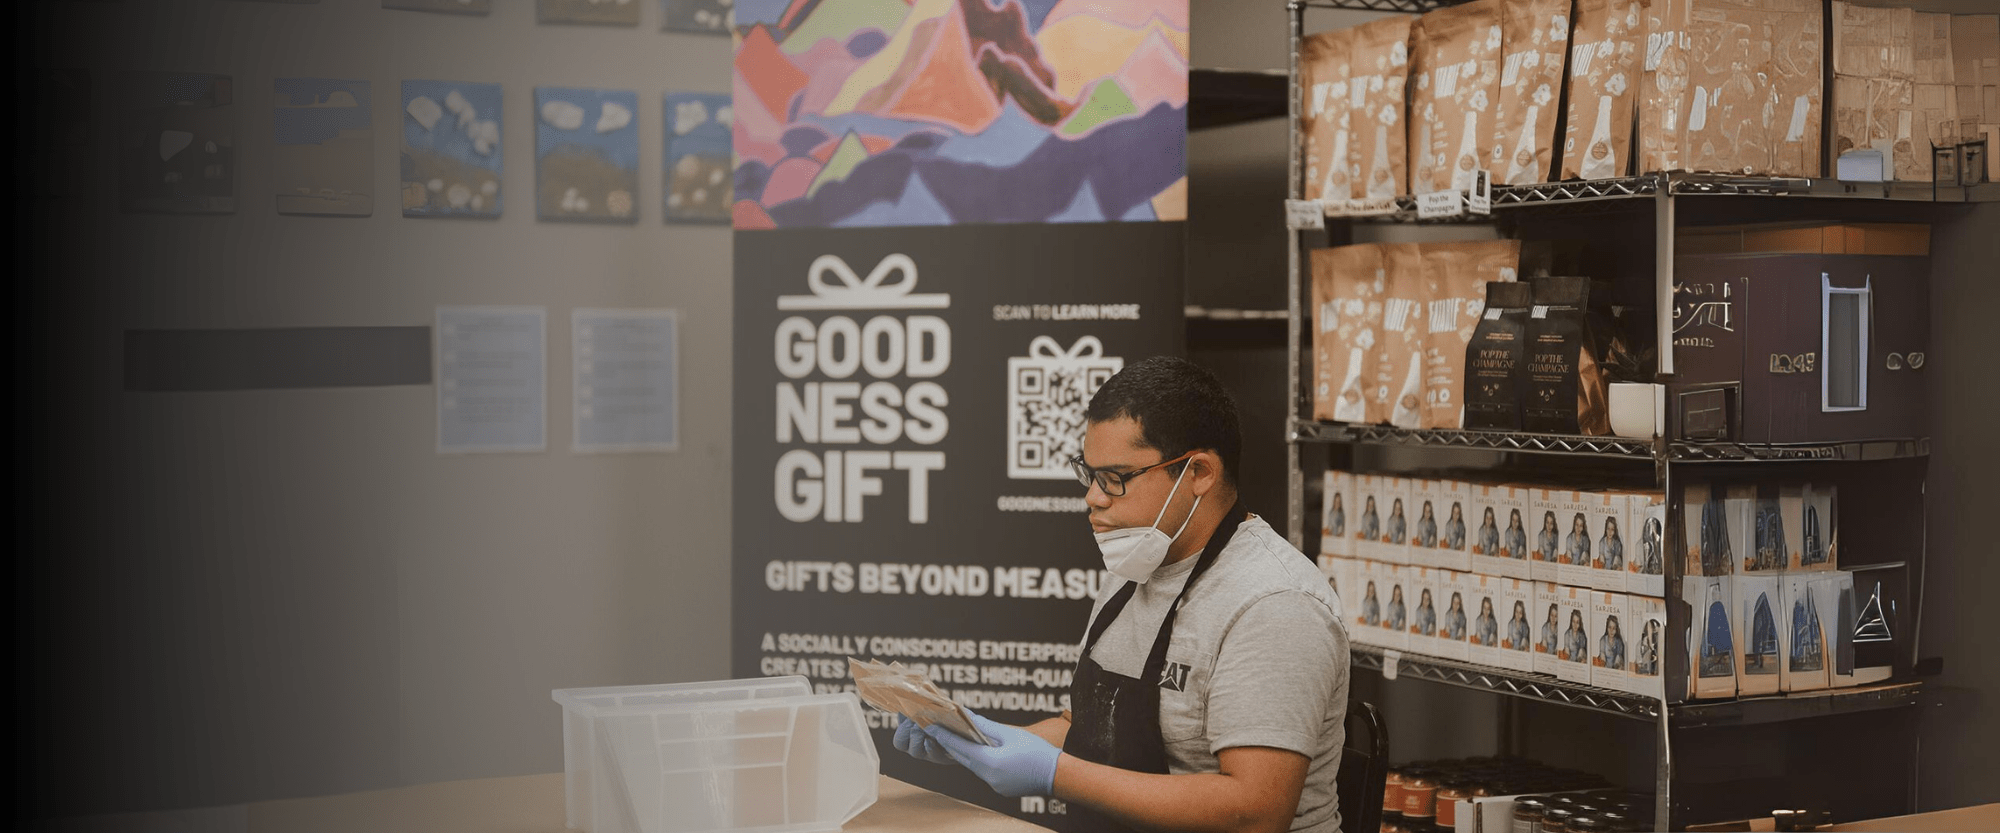
<path fill-rule="evenodd" d="M 1552 435 L 1610 435 L 1610 382 L 1592 330 L 1590 280 L 1534 280 L 1522 425 Z"/>

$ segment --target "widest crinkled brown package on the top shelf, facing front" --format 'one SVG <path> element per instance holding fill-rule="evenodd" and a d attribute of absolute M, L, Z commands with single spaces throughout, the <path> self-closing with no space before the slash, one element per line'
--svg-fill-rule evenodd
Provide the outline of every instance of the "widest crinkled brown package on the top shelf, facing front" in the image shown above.
<path fill-rule="evenodd" d="M 1820 176 L 1820 4 L 1694 0 L 1688 36 L 1688 170 Z"/>

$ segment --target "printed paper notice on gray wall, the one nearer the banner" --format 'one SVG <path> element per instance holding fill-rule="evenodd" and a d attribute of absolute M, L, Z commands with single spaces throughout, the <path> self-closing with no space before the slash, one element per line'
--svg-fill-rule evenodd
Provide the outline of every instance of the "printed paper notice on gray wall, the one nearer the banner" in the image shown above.
<path fill-rule="evenodd" d="M 572 310 L 578 453 L 680 447 L 680 314 Z"/>

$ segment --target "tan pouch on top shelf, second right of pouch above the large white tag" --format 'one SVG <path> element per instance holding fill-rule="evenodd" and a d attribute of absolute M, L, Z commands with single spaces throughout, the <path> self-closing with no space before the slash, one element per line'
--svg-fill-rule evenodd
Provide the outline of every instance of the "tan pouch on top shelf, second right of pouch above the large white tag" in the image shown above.
<path fill-rule="evenodd" d="M 1646 18 L 1638 0 L 1576 0 L 1562 178 L 1602 180 L 1628 172 L 1644 44 Z"/>

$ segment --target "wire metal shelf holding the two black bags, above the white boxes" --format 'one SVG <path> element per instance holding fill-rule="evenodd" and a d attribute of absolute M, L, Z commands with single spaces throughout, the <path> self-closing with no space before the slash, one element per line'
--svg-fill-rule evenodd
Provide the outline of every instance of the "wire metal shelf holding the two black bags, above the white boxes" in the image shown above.
<path fill-rule="evenodd" d="M 1384 447 L 1484 449 L 1530 455 L 1586 455 L 1632 461 L 1658 461 L 1660 441 L 1624 437 L 1536 435 L 1526 431 L 1424 431 L 1386 425 L 1308 423 L 1292 425 L 1294 443 L 1354 443 Z M 1930 439 L 1882 439 L 1854 443 L 1804 445 L 1744 445 L 1688 443 L 1666 445 L 1672 461 L 1684 463 L 1758 463 L 1758 461 L 1896 461 L 1930 457 Z"/>

